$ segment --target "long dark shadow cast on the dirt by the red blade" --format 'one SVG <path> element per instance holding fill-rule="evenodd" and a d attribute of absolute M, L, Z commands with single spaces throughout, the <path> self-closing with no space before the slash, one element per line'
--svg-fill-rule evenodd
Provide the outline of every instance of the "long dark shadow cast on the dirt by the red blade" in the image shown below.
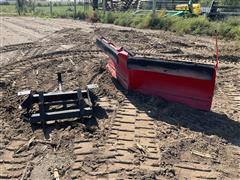
<path fill-rule="evenodd" d="M 216 135 L 240 146 L 236 141 L 240 137 L 240 123 L 228 118 L 227 115 L 193 109 L 160 97 L 126 92 L 116 80 L 112 81 L 138 110 L 145 111 L 151 118 L 206 135 Z"/>

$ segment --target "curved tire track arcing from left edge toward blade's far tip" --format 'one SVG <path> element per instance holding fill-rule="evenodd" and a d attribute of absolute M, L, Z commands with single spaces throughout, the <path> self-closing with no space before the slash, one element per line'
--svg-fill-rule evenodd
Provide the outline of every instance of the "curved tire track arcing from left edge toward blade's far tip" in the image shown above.
<path fill-rule="evenodd" d="M 58 48 L 59 46 L 52 46 L 46 49 L 35 48 L 30 51 L 29 54 L 25 55 L 22 54 L 19 60 L 8 64 L 4 67 L 0 68 L 0 99 L 4 97 L 5 89 L 7 88 L 8 84 L 17 76 L 21 75 L 22 73 L 34 69 L 34 67 L 38 67 L 41 64 L 51 62 L 51 61 L 62 61 L 63 57 L 71 57 L 74 55 L 81 56 L 89 56 L 92 58 L 95 54 L 98 54 L 99 50 L 60 50 L 54 51 L 54 49 Z M 46 53 L 44 53 L 46 52 Z M 64 56 L 63 56 L 64 54 Z M 98 55 L 97 55 L 98 56 Z M 13 82 L 13 81 L 12 81 Z M 28 86 L 23 85 L 21 88 L 27 88 Z"/>

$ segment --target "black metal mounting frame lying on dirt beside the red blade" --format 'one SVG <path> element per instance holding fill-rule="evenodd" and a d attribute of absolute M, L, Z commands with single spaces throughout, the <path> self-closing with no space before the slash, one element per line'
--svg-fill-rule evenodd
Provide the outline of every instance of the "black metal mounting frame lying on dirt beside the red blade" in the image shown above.
<path fill-rule="evenodd" d="M 29 122 L 45 124 L 46 121 L 92 117 L 94 100 L 91 90 L 98 86 L 89 84 L 86 90 L 62 91 L 62 77 L 60 73 L 57 75 L 59 91 L 33 93 L 31 90 L 27 90 L 18 92 L 18 96 L 27 96 L 20 104 L 19 109 L 26 110 L 23 115 Z"/>

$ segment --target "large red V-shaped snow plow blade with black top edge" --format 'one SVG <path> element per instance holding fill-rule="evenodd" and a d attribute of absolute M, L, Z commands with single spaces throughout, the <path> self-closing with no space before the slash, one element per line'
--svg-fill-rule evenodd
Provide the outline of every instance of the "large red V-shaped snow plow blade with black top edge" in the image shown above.
<path fill-rule="evenodd" d="M 105 38 L 96 43 L 110 57 L 108 71 L 126 89 L 211 109 L 217 65 L 138 57 Z"/>

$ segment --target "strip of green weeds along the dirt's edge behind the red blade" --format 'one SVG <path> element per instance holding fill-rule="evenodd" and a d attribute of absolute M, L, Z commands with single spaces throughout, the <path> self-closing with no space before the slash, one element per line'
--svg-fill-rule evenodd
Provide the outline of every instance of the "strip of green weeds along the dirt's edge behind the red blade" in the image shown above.
<path fill-rule="evenodd" d="M 114 23 L 134 28 L 161 29 L 178 34 L 199 34 L 212 36 L 217 30 L 222 39 L 240 39 L 240 21 L 238 18 L 224 21 L 210 21 L 204 16 L 170 17 L 160 14 L 133 15 L 127 13 L 106 13 L 99 16 L 103 23 Z"/>

